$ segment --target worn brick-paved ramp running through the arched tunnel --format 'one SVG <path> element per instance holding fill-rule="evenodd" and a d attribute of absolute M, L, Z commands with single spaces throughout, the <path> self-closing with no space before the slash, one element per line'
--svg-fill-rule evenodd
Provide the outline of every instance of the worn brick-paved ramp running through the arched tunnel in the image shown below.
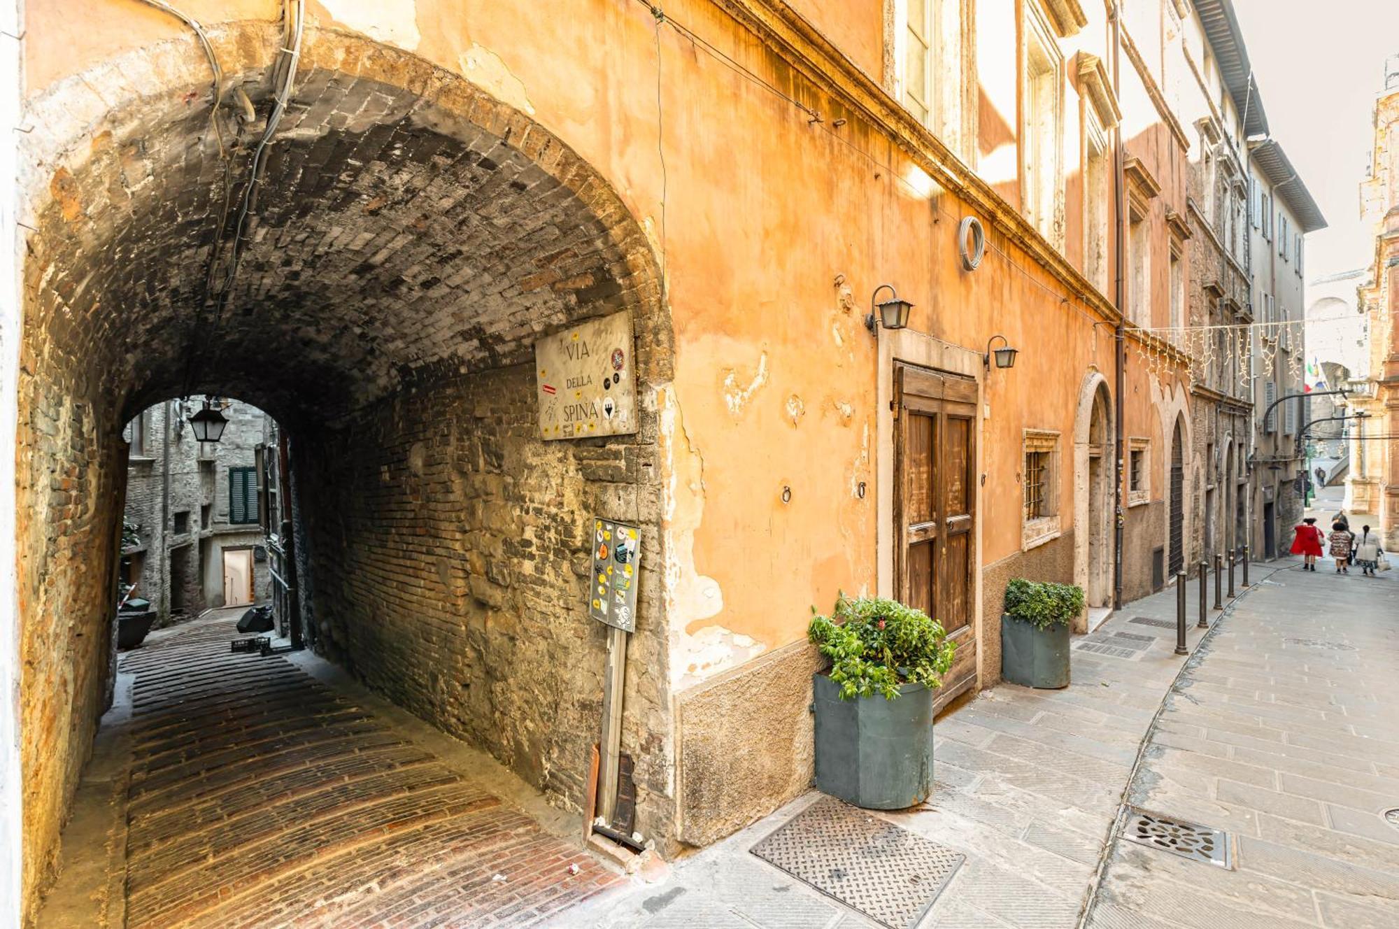
<path fill-rule="evenodd" d="M 540 925 L 617 880 L 236 637 L 207 621 L 122 656 L 132 929 Z"/>

